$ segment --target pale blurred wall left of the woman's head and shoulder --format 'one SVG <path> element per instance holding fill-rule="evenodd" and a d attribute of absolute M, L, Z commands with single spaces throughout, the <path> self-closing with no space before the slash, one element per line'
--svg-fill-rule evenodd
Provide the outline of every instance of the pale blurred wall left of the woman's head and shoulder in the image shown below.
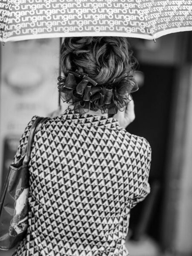
<path fill-rule="evenodd" d="M 57 108 L 59 39 L 6 43 L 0 49 L 1 186 L 32 116 L 47 116 Z"/>

